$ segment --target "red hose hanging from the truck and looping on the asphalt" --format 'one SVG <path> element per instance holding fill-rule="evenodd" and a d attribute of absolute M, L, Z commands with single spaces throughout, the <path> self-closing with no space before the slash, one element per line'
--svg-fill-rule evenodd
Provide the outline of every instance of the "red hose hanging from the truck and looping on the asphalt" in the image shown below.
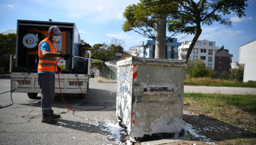
<path fill-rule="evenodd" d="M 61 59 L 61 58 L 60 58 L 60 59 Z M 57 62 L 58 62 L 60 59 L 58 59 Z M 57 62 L 56 62 L 55 68 L 57 67 Z M 55 74 L 58 75 L 58 83 L 59 83 L 60 92 L 61 92 L 61 85 L 60 85 L 60 74 L 61 74 L 61 72 L 62 72 L 62 69 L 61 69 L 61 71 L 60 71 L 58 74 L 55 72 Z M 78 80 L 78 77 L 77 77 L 77 74 L 76 74 L 76 73 L 75 73 L 75 76 L 76 76 L 76 79 L 77 79 L 77 83 L 78 83 L 78 85 L 79 85 L 79 88 L 80 88 L 80 90 L 81 90 L 81 92 L 82 92 L 82 94 L 83 94 L 83 91 L 82 91 L 81 86 L 80 86 L 80 84 L 79 84 L 79 80 Z M 91 103 L 91 102 L 85 97 L 84 94 L 83 94 L 83 96 L 84 96 L 84 99 L 85 99 L 88 103 Z M 91 104 L 93 104 L 93 105 L 103 106 L 103 108 L 98 108 L 98 109 L 86 109 L 86 110 L 75 110 L 75 109 L 70 108 L 70 107 L 67 105 L 67 103 L 66 103 L 66 101 L 64 100 L 64 97 L 63 97 L 63 95 L 62 95 L 62 92 L 61 92 L 61 97 L 62 97 L 63 102 L 64 102 L 65 105 L 67 106 L 67 108 L 65 108 L 65 109 L 71 110 L 71 111 L 89 111 L 89 110 L 99 110 L 99 109 L 107 108 L 107 106 L 104 106 L 104 105 L 99 105 L 99 104 L 91 103 Z"/>

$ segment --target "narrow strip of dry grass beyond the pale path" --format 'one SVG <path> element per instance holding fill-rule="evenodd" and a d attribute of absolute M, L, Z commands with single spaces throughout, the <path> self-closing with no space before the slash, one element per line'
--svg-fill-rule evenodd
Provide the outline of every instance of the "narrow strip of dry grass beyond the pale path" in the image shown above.
<path fill-rule="evenodd" d="M 211 79 L 207 77 L 203 78 L 191 78 L 186 76 L 185 85 L 190 86 L 225 86 L 225 87 L 250 87 L 256 88 L 256 81 L 248 81 L 247 83 L 236 82 L 235 80 L 221 80 L 220 79 Z"/>

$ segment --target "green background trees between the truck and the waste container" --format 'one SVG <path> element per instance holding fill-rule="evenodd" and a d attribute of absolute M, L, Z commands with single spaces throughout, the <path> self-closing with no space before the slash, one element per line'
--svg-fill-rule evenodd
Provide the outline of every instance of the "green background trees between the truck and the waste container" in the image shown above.
<path fill-rule="evenodd" d="M 92 59 L 101 60 L 104 62 L 114 60 L 114 54 L 124 52 L 124 41 L 120 39 L 113 38 L 109 44 L 107 43 L 98 43 L 92 46 Z M 119 60 L 121 57 L 116 56 L 116 60 Z M 94 66 L 100 69 L 105 66 L 103 63 L 95 61 Z"/>

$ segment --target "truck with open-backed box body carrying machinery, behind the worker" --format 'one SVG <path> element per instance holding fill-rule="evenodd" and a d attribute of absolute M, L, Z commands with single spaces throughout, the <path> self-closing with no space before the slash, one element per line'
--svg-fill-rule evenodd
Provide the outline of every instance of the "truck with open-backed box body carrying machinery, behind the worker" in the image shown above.
<path fill-rule="evenodd" d="M 57 26 L 63 33 L 63 35 L 60 35 L 60 39 L 55 42 L 57 52 L 91 57 L 91 46 L 80 40 L 75 23 L 17 20 L 16 56 L 11 56 L 10 60 L 11 66 L 13 62 L 13 67 L 10 67 L 11 89 L 21 84 L 26 72 L 30 71 L 30 74 L 14 92 L 27 93 L 29 98 L 35 98 L 41 92 L 37 82 L 38 44 L 48 37 L 48 29 L 51 26 Z M 15 58 L 15 60 L 12 58 Z M 62 74 L 60 74 L 62 93 L 80 94 L 79 96 L 83 97 L 80 87 L 83 93 L 86 94 L 89 89 L 89 77 L 91 76 L 91 60 L 76 57 L 67 60 L 61 59 L 58 61 L 58 66 L 63 69 Z M 79 81 L 77 81 L 75 73 Z M 55 78 L 55 93 L 61 93 L 58 77 Z"/>

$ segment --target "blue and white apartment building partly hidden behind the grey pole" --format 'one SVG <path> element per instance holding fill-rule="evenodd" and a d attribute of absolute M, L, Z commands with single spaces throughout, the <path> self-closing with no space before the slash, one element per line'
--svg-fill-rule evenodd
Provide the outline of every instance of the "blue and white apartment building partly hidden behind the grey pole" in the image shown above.
<path fill-rule="evenodd" d="M 167 59 L 177 59 L 178 56 L 178 47 L 181 45 L 181 42 L 177 42 L 177 38 L 166 37 L 166 47 L 167 47 Z M 155 58 L 155 48 L 156 40 L 149 39 L 146 41 L 140 42 L 140 57 L 145 58 Z"/>

